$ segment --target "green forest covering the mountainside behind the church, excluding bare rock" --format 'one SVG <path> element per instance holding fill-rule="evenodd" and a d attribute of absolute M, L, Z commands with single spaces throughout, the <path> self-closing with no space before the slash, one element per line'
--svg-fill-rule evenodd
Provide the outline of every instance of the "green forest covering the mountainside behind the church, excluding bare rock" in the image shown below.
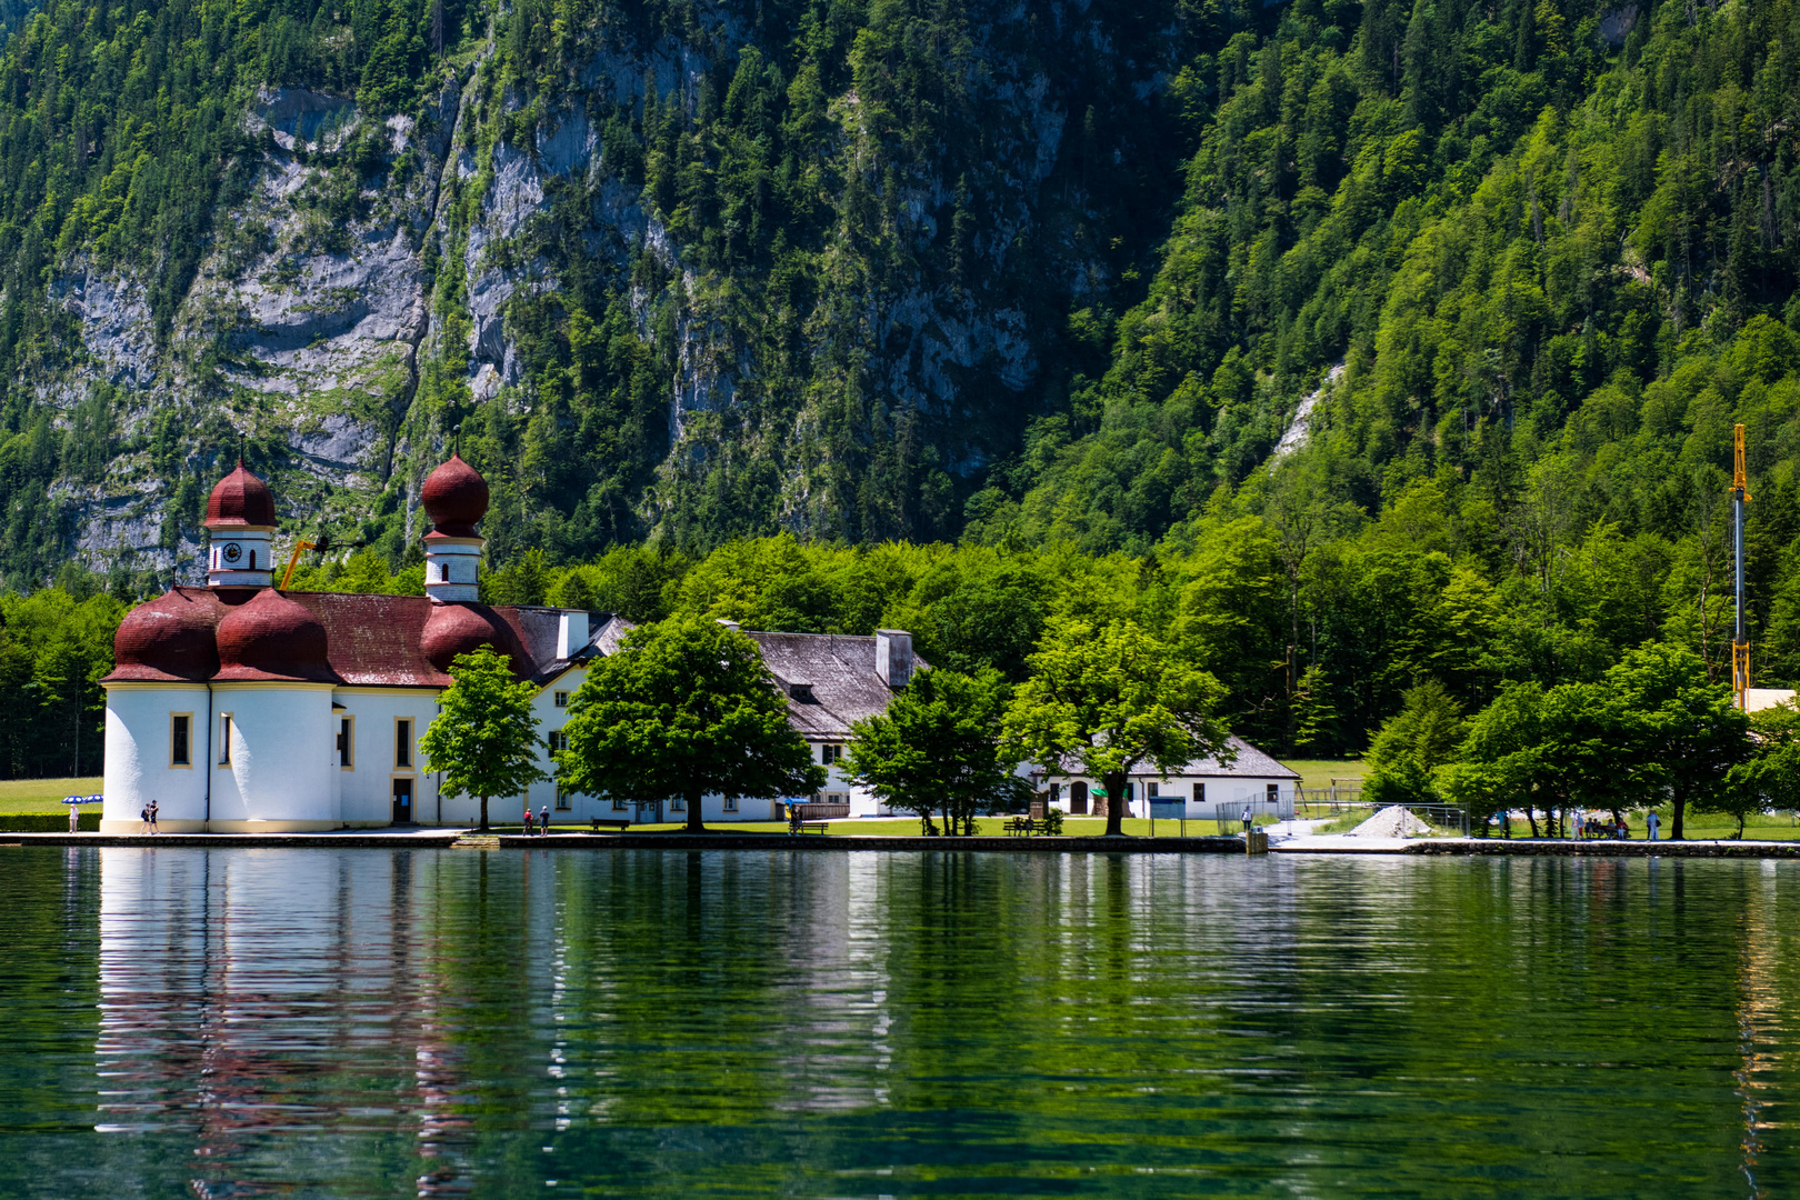
<path fill-rule="evenodd" d="M 0 570 L 31 592 L 7 604 L 79 624 L 191 578 L 216 443 L 245 432 L 225 383 L 180 412 L 47 389 L 81 358 L 59 264 L 137 272 L 173 347 L 214 214 L 275 153 L 234 115 L 250 92 L 409 113 L 464 72 L 477 173 L 421 243 L 436 324 L 394 428 L 421 466 L 459 428 L 493 480 L 497 603 L 900 626 L 1013 680 L 1048 622 L 1130 615 L 1220 680 L 1237 732 L 1361 754 L 1427 682 L 1467 721 L 1661 646 L 1721 687 L 1744 425 L 1753 673 L 1800 682 L 1800 7 L 1093 5 L 1084 54 L 1058 5 L 995 13 L 50 0 L 0 50 Z M 583 95 L 596 56 L 670 40 L 691 88 Z M 1024 137 L 1001 63 L 1066 117 L 1037 178 L 997 166 Z M 495 146 L 571 103 L 605 153 L 488 252 L 554 286 L 506 306 L 518 378 L 479 399 L 445 264 Z M 342 184 L 311 221 L 416 169 L 362 135 L 311 166 Z M 608 187 L 673 257 L 594 250 Z M 1024 360 L 922 390 L 896 324 L 920 297 L 1017 315 Z M 734 390 L 671 412 L 700 351 Z M 299 470 L 274 426 L 245 448 Z M 160 558 L 77 551 L 70 489 L 119 464 L 167 498 Z M 418 590 L 414 480 L 355 518 L 288 502 L 284 538 L 365 543 L 297 587 Z"/>

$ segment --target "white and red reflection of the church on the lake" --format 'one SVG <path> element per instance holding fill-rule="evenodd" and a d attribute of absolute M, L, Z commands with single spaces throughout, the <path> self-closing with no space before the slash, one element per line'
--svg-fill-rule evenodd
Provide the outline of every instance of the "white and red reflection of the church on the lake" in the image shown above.
<path fill-rule="evenodd" d="M 277 1184 L 320 1133 L 324 1157 L 369 1157 L 351 1175 L 410 1153 L 418 1195 L 468 1193 L 419 918 L 436 856 L 99 853 L 101 1130 L 191 1144 L 200 1196 Z"/>

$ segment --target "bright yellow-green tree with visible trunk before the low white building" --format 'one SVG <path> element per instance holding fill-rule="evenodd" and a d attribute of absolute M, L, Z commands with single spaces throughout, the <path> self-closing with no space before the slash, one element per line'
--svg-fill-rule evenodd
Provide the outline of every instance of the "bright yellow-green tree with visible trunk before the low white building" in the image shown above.
<path fill-rule="evenodd" d="M 1076 768 L 1107 792 L 1107 837 L 1123 837 L 1125 779 L 1139 765 L 1172 770 L 1229 759 L 1217 720 L 1224 689 L 1134 621 L 1053 624 L 1006 711 L 1010 754 Z"/>

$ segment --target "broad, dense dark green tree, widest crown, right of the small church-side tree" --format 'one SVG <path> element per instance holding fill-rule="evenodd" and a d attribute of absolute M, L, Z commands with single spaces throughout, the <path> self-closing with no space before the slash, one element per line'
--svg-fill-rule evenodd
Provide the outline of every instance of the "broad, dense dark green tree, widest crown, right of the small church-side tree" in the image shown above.
<path fill-rule="evenodd" d="M 680 797 L 689 833 L 706 831 L 706 795 L 806 795 L 826 781 L 756 642 L 706 617 L 630 631 L 589 669 L 563 732 L 562 786 Z"/>

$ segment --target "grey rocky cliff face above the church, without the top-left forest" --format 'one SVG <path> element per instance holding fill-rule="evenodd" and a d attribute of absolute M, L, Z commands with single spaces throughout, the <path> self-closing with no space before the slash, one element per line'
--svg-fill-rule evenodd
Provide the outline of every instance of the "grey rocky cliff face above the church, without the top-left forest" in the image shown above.
<path fill-rule="evenodd" d="M 994 4 L 814 52 L 740 7 L 601 20 L 535 74 L 490 31 L 401 115 L 263 86 L 166 329 L 130 254 L 47 286 L 68 353 L 25 383 L 115 435 L 52 486 L 76 556 L 194 574 L 239 443 L 292 534 L 403 556 L 454 426 L 499 558 L 954 534 L 1066 403 L 1071 313 L 1130 299 L 1179 29 Z"/>

